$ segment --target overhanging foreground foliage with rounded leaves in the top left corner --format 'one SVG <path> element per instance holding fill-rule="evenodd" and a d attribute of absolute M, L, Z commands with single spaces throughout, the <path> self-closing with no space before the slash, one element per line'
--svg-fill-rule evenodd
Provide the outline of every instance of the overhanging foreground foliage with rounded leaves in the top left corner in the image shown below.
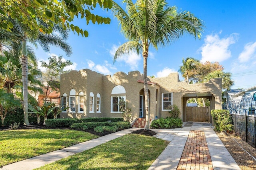
<path fill-rule="evenodd" d="M 18 20 L 31 30 L 50 34 L 54 31 L 54 24 L 64 29 L 71 29 L 78 35 L 87 37 L 88 31 L 74 25 L 74 18 L 81 18 L 98 24 L 109 24 L 110 18 L 103 18 L 90 11 L 99 4 L 100 8 L 111 8 L 112 0 L 4 0 L 0 1 L 0 16 Z M 46 24 L 39 24 L 42 21 Z M 12 31 L 13 23 L 0 20 L 0 28 Z"/>

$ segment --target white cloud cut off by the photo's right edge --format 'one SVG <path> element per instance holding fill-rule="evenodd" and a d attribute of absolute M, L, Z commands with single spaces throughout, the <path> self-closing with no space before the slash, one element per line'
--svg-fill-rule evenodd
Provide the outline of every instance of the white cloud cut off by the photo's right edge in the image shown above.
<path fill-rule="evenodd" d="M 244 46 L 244 51 L 240 53 L 238 60 L 240 63 L 248 62 L 251 58 L 255 57 L 256 42 L 248 43 Z"/>

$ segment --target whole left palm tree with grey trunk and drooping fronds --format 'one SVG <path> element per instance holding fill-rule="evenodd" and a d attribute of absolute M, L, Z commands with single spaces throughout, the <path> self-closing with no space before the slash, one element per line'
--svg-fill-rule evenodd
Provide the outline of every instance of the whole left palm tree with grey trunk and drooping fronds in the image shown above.
<path fill-rule="evenodd" d="M 3 20 L 6 18 L 2 18 Z M 24 124 L 29 125 L 28 121 L 28 51 L 27 51 L 27 42 L 35 45 L 37 43 L 44 49 L 44 51 L 50 51 L 50 45 L 60 47 L 65 53 L 70 56 L 72 53 L 70 45 L 65 41 L 68 38 L 67 30 L 64 30 L 63 27 L 55 25 L 52 27 L 53 32 L 58 31 L 60 35 L 54 33 L 43 34 L 40 32 L 40 29 L 30 29 L 27 25 L 19 23 L 16 20 L 10 20 L 13 23 L 12 32 L 6 31 L 4 29 L 0 30 L 0 41 L 12 41 L 14 42 L 13 47 L 22 47 L 21 50 L 21 60 L 20 64 L 22 66 L 22 88 L 23 88 L 23 105 L 24 105 Z M 38 21 L 40 22 L 40 21 Z M 46 25 L 46 23 L 42 23 Z"/>

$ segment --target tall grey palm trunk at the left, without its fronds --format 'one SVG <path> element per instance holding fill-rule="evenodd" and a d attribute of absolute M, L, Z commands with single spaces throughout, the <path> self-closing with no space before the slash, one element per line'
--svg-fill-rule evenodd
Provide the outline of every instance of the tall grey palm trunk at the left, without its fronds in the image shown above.
<path fill-rule="evenodd" d="M 28 52 L 27 41 L 24 37 L 22 40 L 22 86 L 23 86 L 23 105 L 24 105 L 24 124 L 29 125 L 28 121 Z"/>

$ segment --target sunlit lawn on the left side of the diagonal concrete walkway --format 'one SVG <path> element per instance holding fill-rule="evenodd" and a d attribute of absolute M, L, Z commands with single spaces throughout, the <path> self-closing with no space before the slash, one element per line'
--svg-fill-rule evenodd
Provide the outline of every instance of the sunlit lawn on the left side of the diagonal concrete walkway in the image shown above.
<path fill-rule="evenodd" d="M 0 131 L 0 167 L 96 137 L 83 131 L 62 129 Z"/>

